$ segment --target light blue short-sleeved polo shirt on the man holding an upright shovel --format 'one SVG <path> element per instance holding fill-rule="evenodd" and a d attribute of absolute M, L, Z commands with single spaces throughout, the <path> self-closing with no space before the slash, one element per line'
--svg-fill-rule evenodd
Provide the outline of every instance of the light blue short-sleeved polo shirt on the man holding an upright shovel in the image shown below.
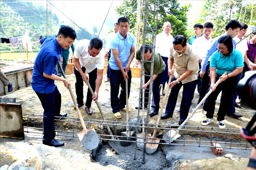
<path fill-rule="evenodd" d="M 128 64 L 129 55 L 131 51 L 131 47 L 135 46 L 135 37 L 127 33 L 126 39 L 121 36 L 120 32 L 117 33 L 117 36 L 111 41 L 110 49 L 118 49 L 119 51 L 119 59 L 122 62 L 123 68 Z M 117 66 L 116 60 L 111 52 L 111 57 L 109 59 L 109 67 L 113 70 L 120 70 Z"/>

